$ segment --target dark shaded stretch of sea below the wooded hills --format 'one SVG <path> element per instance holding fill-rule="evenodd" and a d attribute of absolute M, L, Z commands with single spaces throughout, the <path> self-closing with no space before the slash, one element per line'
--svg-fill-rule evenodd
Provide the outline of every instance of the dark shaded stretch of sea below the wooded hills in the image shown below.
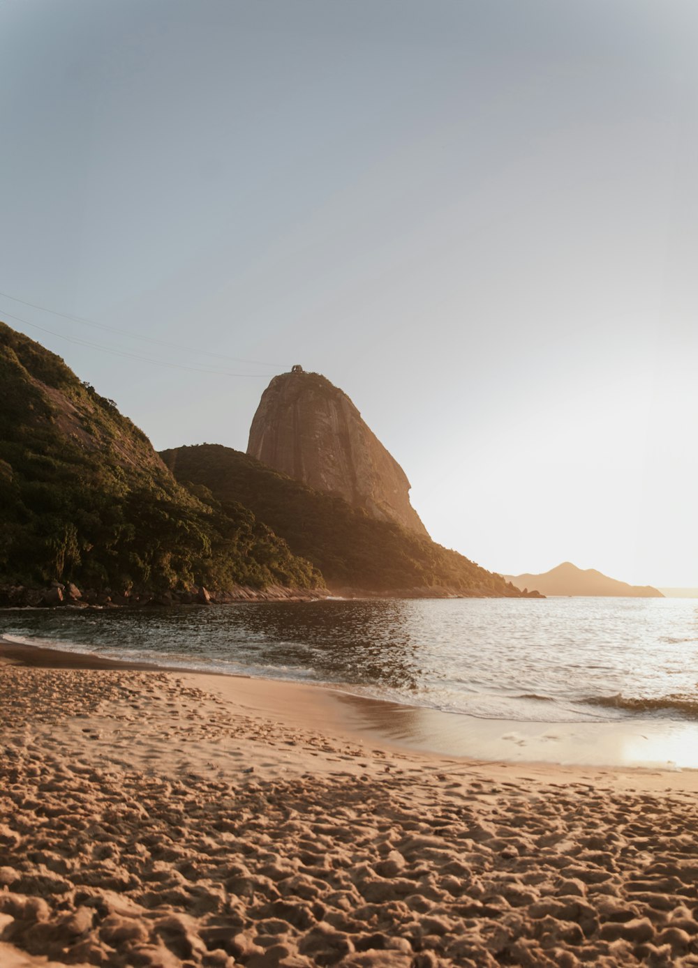
<path fill-rule="evenodd" d="M 424 667 L 405 602 L 255 602 L 206 609 L 13 611 L 5 634 L 284 677 L 412 693 Z"/>

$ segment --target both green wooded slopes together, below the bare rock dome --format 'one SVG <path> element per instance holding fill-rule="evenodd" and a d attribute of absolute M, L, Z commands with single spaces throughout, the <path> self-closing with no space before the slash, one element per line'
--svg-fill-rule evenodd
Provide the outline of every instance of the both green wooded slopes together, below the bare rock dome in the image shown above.
<path fill-rule="evenodd" d="M 236 450 L 162 457 L 60 357 L 0 323 L 0 585 L 161 593 L 324 577 L 382 593 L 520 594 Z"/>

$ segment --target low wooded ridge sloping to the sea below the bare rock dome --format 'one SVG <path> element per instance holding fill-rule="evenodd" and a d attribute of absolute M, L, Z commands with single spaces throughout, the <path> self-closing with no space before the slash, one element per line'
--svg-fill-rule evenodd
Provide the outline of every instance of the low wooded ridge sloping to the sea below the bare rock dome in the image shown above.
<path fill-rule="evenodd" d="M 178 480 L 206 487 L 224 510 L 231 501 L 251 508 L 335 591 L 522 597 L 500 575 L 430 538 L 314 491 L 238 450 L 205 443 L 164 450 L 161 457 Z"/>

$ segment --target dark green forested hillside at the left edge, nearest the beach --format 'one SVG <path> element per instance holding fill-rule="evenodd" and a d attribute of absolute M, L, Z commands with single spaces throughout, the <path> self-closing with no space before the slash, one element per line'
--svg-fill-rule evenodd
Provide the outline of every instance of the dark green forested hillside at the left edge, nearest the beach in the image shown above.
<path fill-rule="evenodd" d="M 51 583 L 53 600 L 68 583 L 88 600 L 322 586 L 247 508 L 182 487 L 113 401 L 4 323 L 0 508 L 6 604 Z"/>

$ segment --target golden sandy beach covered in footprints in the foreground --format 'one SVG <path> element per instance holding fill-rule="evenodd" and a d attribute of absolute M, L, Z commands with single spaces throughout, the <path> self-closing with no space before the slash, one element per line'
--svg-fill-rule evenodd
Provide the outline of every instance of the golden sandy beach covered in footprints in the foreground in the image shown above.
<path fill-rule="evenodd" d="M 698 965 L 695 771 L 444 756 L 317 687 L 0 659 L 3 968 Z"/>

